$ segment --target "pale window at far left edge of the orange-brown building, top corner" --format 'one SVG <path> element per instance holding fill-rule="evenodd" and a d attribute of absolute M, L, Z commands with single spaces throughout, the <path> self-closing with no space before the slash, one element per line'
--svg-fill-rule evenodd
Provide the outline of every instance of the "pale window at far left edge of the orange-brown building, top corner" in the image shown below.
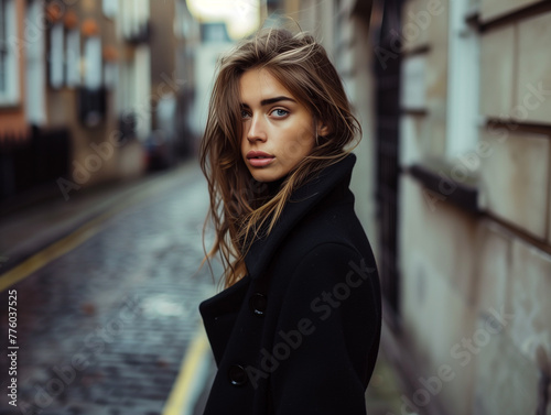
<path fill-rule="evenodd" d="M 0 0 L 0 106 L 19 102 L 17 35 L 15 1 Z"/>

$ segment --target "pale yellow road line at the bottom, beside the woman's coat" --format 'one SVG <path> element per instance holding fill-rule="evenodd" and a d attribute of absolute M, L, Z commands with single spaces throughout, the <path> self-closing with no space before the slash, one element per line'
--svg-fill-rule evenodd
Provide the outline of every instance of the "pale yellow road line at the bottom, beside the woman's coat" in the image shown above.
<path fill-rule="evenodd" d="M 208 352 L 208 339 L 202 329 L 193 339 L 190 351 L 182 361 L 180 374 L 172 387 L 162 415 L 182 415 L 184 405 L 190 403 L 192 389 L 197 380 L 201 362 Z"/>

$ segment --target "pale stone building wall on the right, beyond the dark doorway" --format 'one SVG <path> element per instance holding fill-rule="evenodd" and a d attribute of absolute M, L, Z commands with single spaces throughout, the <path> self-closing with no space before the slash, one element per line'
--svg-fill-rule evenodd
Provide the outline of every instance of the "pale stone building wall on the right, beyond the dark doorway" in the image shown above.
<path fill-rule="evenodd" d="M 401 18 L 408 343 L 452 414 L 550 413 L 551 61 L 542 51 L 551 7 L 410 0 Z M 419 381 L 413 404 L 428 406 L 433 394 Z"/>

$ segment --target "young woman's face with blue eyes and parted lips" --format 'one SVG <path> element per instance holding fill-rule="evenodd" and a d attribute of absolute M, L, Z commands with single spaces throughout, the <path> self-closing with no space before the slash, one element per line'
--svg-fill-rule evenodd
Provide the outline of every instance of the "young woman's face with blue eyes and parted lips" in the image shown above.
<path fill-rule="evenodd" d="M 259 182 L 285 176 L 313 149 L 310 111 L 267 69 L 250 69 L 240 79 L 241 156 Z"/>

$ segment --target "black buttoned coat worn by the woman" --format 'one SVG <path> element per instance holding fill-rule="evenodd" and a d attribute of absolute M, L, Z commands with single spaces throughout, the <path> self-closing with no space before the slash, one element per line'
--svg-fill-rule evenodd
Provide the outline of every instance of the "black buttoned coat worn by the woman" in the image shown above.
<path fill-rule="evenodd" d="M 218 367 L 205 415 L 359 415 L 380 338 L 376 264 L 354 212 L 350 154 L 299 188 L 199 306 Z"/>

